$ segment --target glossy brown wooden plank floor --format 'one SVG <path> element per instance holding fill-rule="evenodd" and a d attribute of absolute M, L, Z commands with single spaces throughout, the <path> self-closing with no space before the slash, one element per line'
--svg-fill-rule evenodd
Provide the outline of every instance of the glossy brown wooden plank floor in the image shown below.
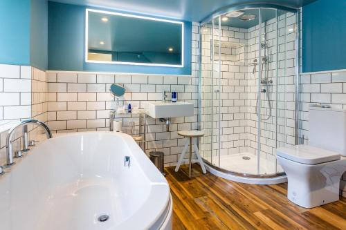
<path fill-rule="evenodd" d="M 173 198 L 173 229 L 343 229 L 346 198 L 304 209 L 286 198 L 287 184 L 230 182 L 194 166 L 165 169 Z"/>

